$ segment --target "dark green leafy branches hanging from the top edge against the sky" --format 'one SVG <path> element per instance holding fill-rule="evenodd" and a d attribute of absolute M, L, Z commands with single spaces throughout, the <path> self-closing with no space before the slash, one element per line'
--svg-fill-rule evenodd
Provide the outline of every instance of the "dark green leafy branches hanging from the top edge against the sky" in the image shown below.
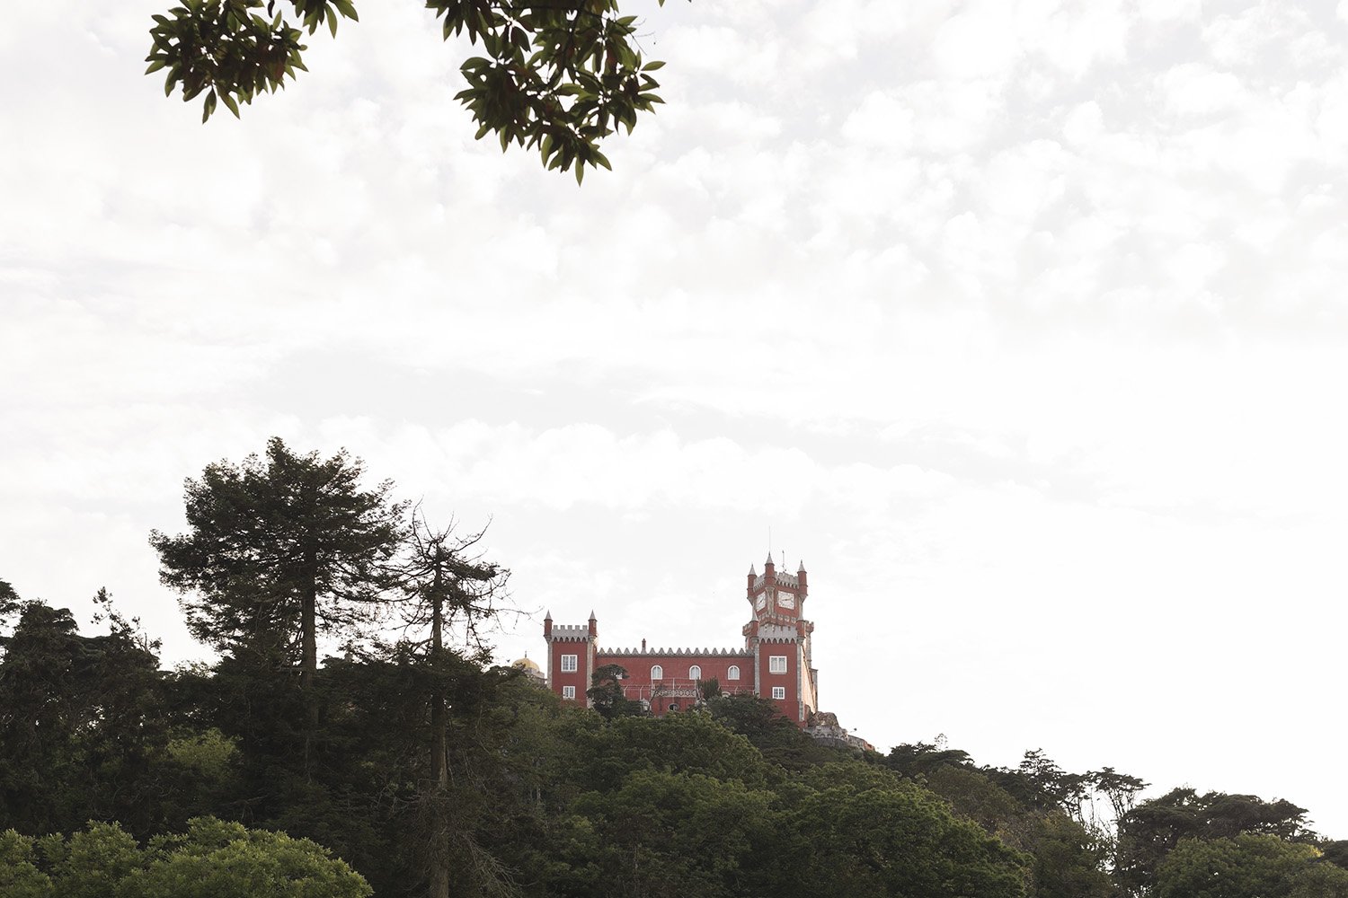
<path fill-rule="evenodd" d="M 659 0 L 663 4 L 663 0 Z M 426 0 L 443 39 L 468 35 L 484 55 L 466 59 L 468 81 L 456 100 L 477 123 L 477 139 L 495 133 L 537 149 L 549 170 L 611 168 L 600 141 L 619 128 L 631 133 L 636 116 L 663 102 L 638 43 L 638 16 L 621 15 L 619 0 Z M 146 74 L 166 70 L 164 94 L 183 101 L 204 94 L 201 120 L 222 102 L 240 104 L 275 93 L 307 71 L 302 43 L 340 19 L 357 20 L 350 0 L 185 0 L 155 15 Z"/>

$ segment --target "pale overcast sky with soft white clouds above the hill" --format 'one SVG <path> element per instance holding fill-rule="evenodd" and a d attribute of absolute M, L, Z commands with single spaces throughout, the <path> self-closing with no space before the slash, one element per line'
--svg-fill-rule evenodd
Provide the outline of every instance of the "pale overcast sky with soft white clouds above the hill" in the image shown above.
<path fill-rule="evenodd" d="M 154 3 L 0 19 L 0 579 L 206 658 L 150 530 L 345 447 L 489 525 L 501 661 L 741 645 L 772 552 L 882 751 L 1348 837 L 1348 0 L 635 4 L 666 105 L 584 187 L 359 8 L 205 125 Z"/>

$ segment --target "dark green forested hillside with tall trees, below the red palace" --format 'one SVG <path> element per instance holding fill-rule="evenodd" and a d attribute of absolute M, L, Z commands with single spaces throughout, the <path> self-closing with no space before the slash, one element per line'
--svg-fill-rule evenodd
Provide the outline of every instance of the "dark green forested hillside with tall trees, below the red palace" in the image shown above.
<path fill-rule="evenodd" d="M 563 704 L 472 640 L 481 536 L 361 478 L 272 440 L 189 481 L 151 541 L 209 666 L 0 583 L 0 895 L 1348 897 L 1287 801 L 832 749 L 744 696 L 652 719 L 612 670 Z"/>

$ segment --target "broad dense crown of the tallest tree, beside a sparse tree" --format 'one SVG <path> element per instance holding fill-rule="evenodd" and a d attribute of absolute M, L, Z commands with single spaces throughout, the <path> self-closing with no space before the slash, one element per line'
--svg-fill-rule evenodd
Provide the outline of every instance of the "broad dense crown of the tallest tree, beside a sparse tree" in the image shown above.
<path fill-rule="evenodd" d="M 307 688 L 318 633 L 368 619 L 394 582 L 404 505 L 390 501 L 390 481 L 363 490 L 363 473 L 345 451 L 324 460 L 272 438 L 266 459 L 221 460 L 189 478 L 189 532 L 154 530 L 150 544 L 193 634 L 236 656 L 298 660 Z"/>

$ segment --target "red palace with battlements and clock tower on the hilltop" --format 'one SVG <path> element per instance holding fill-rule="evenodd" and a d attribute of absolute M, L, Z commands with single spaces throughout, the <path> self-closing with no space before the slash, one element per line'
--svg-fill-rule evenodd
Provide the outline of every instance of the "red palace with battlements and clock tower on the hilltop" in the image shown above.
<path fill-rule="evenodd" d="M 751 618 L 740 649 L 603 649 L 590 611 L 585 625 L 553 623 L 543 618 L 547 641 L 547 685 L 562 699 L 584 701 L 594 670 L 616 664 L 627 670 L 623 691 L 651 714 L 692 708 L 702 684 L 716 679 L 721 692 L 771 699 L 799 727 L 818 711 L 820 672 L 810 666 L 810 634 L 805 619 L 809 579 L 802 561 L 794 575 L 778 572 L 768 555 L 759 575 L 749 565 L 744 598 Z M 832 716 L 832 715 L 830 715 Z"/>

